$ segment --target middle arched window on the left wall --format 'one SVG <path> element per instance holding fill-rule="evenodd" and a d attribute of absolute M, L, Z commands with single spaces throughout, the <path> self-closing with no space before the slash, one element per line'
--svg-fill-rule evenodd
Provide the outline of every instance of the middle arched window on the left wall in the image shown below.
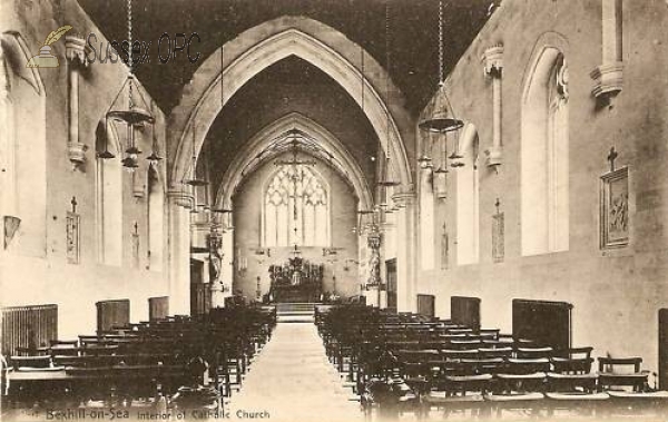
<path fill-rule="evenodd" d="M 122 262 L 122 150 L 116 128 L 101 122 L 97 130 L 97 151 L 108 150 L 114 158 L 97 159 L 98 261 L 107 265 Z"/>

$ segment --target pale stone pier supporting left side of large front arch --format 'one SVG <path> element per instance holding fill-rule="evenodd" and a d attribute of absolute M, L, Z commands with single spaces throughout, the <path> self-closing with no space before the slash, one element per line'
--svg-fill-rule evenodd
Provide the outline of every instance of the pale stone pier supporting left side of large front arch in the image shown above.
<path fill-rule="evenodd" d="M 167 192 L 169 207 L 169 312 L 190 314 L 190 213 L 193 196 L 181 189 Z"/>

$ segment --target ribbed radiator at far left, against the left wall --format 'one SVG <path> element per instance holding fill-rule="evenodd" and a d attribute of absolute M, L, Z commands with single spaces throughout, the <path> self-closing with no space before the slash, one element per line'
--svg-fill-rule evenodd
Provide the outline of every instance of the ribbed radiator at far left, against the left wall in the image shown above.
<path fill-rule="evenodd" d="M 2 308 L 2 354 L 17 347 L 48 346 L 58 338 L 58 305 L 27 305 Z"/>

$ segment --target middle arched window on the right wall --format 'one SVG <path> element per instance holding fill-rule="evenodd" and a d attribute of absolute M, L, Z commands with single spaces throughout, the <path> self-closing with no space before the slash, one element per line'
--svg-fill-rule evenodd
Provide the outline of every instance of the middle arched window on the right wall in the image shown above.
<path fill-rule="evenodd" d="M 480 258 L 478 130 L 471 124 L 460 137 L 462 167 L 456 169 L 456 262 L 475 264 Z"/>

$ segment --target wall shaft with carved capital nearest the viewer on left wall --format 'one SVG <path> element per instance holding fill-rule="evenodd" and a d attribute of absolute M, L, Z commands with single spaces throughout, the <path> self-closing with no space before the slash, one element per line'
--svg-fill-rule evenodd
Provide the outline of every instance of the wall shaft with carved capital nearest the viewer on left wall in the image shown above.
<path fill-rule="evenodd" d="M 65 37 L 65 53 L 68 59 L 68 143 L 67 154 L 72 168 L 77 169 L 86 163 L 88 146 L 79 141 L 79 70 L 88 66 L 86 60 L 86 41 L 75 36 Z"/>

